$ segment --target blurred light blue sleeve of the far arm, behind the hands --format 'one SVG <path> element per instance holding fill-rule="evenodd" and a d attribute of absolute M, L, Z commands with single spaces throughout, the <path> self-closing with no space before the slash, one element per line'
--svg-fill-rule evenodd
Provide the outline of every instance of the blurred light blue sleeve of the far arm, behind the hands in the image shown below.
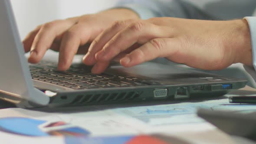
<path fill-rule="evenodd" d="M 119 0 L 116 7 L 124 7 L 138 13 L 141 19 L 152 17 L 178 17 L 186 19 L 213 20 L 192 3 L 181 0 Z"/>

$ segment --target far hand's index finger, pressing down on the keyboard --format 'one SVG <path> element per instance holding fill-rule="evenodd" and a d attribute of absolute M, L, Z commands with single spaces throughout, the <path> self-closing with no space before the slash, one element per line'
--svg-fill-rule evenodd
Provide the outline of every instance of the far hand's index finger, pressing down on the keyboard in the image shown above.
<path fill-rule="evenodd" d="M 69 69 L 79 46 L 83 46 L 89 41 L 92 31 L 89 25 L 77 24 L 63 35 L 59 49 L 59 70 L 65 71 Z"/>

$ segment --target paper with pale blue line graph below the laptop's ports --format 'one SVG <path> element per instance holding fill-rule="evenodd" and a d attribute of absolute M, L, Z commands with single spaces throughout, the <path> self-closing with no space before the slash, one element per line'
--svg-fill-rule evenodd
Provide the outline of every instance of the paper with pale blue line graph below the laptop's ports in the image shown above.
<path fill-rule="evenodd" d="M 120 115 L 137 118 L 146 124 L 166 125 L 203 122 L 203 120 L 196 115 L 198 108 L 212 111 L 226 110 L 239 113 L 256 111 L 256 105 L 230 104 L 225 99 L 184 104 L 116 108 L 114 111 Z"/>

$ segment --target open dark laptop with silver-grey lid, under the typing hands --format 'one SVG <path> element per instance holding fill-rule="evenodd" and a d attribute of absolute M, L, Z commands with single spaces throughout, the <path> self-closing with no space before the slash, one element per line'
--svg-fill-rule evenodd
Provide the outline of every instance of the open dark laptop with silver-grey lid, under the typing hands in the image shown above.
<path fill-rule="evenodd" d="M 22 108 L 174 101 L 225 95 L 245 80 L 145 62 L 131 68 L 110 66 L 95 75 L 74 64 L 59 72 L 55 62 L 27 63 L 10 0 L 0 1 L 0 99 Z"/>

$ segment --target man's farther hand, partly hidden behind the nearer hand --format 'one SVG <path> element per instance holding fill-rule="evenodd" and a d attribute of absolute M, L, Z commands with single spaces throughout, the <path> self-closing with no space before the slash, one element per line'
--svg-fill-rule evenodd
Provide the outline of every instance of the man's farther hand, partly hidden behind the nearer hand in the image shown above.
<path fill-rule="evenodd" d="M 75 54 L 86 54 L 89 44 L 117 20 L 136 20 L 138 15 L 128 9 L 111 9 L 101 13 L 56 20 L 38 26 L 23 40 L 30 52 L 28 61 L 38 63 L 46 50 L 59 51 L 58 69 L 69 69 Z"/>

